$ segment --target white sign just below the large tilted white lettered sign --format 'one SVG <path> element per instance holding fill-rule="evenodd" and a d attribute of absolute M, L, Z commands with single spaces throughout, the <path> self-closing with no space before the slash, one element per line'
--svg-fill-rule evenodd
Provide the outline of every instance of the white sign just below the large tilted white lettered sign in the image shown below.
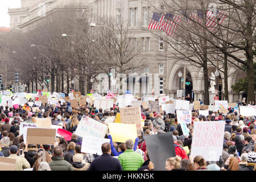
<path fill-rule="evenodd" d="M 81 152 L 102 155 L 101 146 L 106 142 L 110 143 L 110 139 L 84 136 L 82 137 Z"/>

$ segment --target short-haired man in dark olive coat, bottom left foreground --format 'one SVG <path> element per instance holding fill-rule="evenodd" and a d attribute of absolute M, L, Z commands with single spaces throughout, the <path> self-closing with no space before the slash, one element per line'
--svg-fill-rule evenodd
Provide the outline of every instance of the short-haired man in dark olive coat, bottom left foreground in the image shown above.
<path fill-rule="evenodd" d="M 59 146 L 54 147 L 52 162 L 49 162 L 52 171 L 73 171 L 72 165 L 63 159 L 63 151 Z"/>

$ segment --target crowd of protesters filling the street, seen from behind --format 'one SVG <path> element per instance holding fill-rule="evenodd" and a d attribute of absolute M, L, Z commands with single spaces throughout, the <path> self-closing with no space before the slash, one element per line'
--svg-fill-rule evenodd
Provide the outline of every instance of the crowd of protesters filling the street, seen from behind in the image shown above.
<path fill-rule="evenodd" d="M 30 100 L 31 101 L 31 100 Z M 34 105 L 35 106 L 35 105 Z M 0 107 L 0 156 L 16 159 L 15 170 L 32 168 L 34 171 L 143 171 L 156 170 L 150 161 L 144 136 L 172 132 L 176 156 L 166 160 L 168 171 L 255 171 L 256 170 L 256 121 L 254 116 L 243 117 L 229 108 L 228 114 L 209 111 L 209 115 L 199 115 L 192 110 L 192 123 L 188 125 L 189 135 L 184 136 L 176 113 L 155 113 L 142 108 L 144 126 L 142 137 L 125 143 L 113 142 L 109 133 L 105 138 L 110 143 L 102 144 L 102 155 L 81 152 L 82 138 L 74 132 L 83 115 L 105 123 L 106 119 L 119 112 L 118 105 L 109 110 L 89 105 L 72 107 L 70 102 L 58 106 L 46 104 L 35 112 L 27 110 L 28 104 Z M 30 107 L 31 108 L 31 107 Z M 28 144 L 19 135 L 21 122 L 36 123 L 36 118 L 51 118 L 52 125 L 70 131 L 70 141 L 57 137 L 54 145 Z M 191 156 L 193 123 L 225 121 L 222 156 L 217 162 L 205 161 L 203 156 Z M 183 147 L 188 146 L 186 152 Z M 22 151 L 22 153 L 20 152 Z M 43 160 L 42 160 L 43 159 Z"/>

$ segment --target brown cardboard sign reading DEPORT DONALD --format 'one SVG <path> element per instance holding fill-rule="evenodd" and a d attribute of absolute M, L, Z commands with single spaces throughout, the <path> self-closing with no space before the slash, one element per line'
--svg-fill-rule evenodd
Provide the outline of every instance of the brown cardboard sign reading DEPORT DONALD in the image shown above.
<path fill-rule="evenodd" d="M 120 108 L 121 123 L 135 124 L 137 135 L 141 136 L 141 107 Z"/>

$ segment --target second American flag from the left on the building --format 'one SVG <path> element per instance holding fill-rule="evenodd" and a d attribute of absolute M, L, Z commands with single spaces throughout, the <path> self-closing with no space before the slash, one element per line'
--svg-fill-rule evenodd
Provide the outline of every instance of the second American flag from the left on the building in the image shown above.
<path fill-rule="evenodd" d="M 176 32 L 177 25 L 180 22 L 180 15 L 172 15 L 170 13 L 167 13 L 166 16 L 164 17 L 164 31 L 166 32 L 166 34 L 173 37 Z"/>

